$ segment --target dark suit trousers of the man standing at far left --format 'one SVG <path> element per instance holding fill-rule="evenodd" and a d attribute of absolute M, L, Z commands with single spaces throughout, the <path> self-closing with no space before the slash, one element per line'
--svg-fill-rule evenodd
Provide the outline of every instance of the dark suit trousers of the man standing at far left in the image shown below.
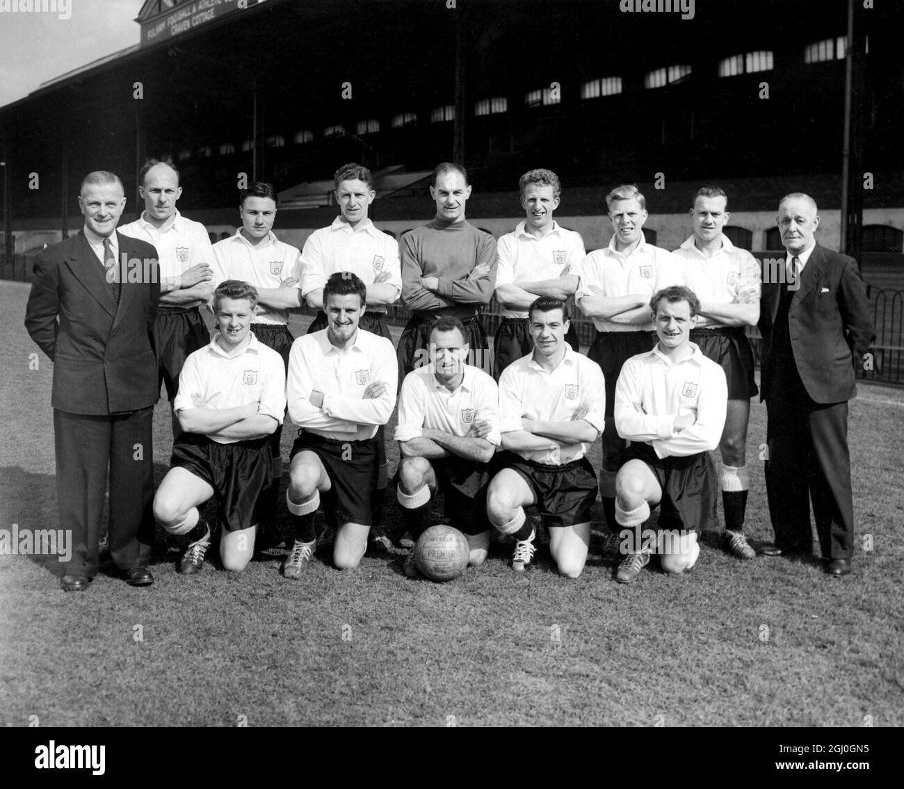
<path fill-rule="evenodd" d="M 53 409 L 61 528 L 72 532 L 69 575 L 93 578 L 109 473 L 110 558 L 143 568 L 154 546 L 153 406 L 109 415 Z"/>

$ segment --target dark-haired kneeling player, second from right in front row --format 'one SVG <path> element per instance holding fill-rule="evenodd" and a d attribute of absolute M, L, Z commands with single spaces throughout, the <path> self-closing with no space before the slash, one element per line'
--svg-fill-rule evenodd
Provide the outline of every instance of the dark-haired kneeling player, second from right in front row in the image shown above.
<path fill-rule="evenodd" d="M 606 385 L 596 362 L 565 342 L 565 305 L 538 298 L 530 307 L 533 352 L 499 378 L 502 467 L 490 483 L 486 512 L 494 527 L 513 535 L 512 568 L 530 568 L 535 537 L 524 507 L 537 505 L 550 531 L 559 572 L 577 578 L 587 560 L 590 508 L 597 475 L 586 457 L 606 424 Z"/>

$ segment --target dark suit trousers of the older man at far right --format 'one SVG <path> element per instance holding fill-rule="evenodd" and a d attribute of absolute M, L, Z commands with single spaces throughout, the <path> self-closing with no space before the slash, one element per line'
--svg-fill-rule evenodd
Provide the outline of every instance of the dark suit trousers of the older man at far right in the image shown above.
<path fill-rule="evenodd" d="M 776 545 L 810 553 L 813 531 L 824 559 L 851 559 L 853 496 L 847 401 L 816 403 L 803 383 L 773 385 L 766 401 L 766 492 Z M 778 394 L 780 392 L 780 395 Z"/>

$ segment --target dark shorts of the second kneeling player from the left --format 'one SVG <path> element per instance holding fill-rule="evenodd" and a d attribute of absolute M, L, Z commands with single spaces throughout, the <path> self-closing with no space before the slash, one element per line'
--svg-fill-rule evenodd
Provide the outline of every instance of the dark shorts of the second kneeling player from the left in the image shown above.
<path fill-rule="evenodd" d="M 371 497 L 380 473 L 377 439 L 334 441 L 302 429 L 298 431 L 289 457 L 295 457 L 299 452 L 315 453 L 333 485 L 327 493 L 321 493 L 326 525 L 334 529 L 343 523 L 370 526 Z"/>

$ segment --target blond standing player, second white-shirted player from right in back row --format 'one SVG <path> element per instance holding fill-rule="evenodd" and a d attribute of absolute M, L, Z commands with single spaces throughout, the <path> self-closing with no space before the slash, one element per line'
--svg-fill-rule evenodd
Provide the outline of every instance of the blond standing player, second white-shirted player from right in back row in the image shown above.
<path fill-rule="evenodd" d="M 653 347 L 654 324 L 650 298 L 660 288 L 681 282 L 681 268 L 670 252 L 646 243 L 646 200 L 634 184 L 617 186 L 606 195 L 612 239 L 604 249 L 591 252 L 580 264 L 576 301 L 597 328 L 588 356 L 606 377 L 606 429 L 599 493 L 609 530 L 607 545 L 617 543 L 615 517 L 616 474 L 622 464 L 625 441 L 618 436 L 613 406 L 622 364 Z"/>

